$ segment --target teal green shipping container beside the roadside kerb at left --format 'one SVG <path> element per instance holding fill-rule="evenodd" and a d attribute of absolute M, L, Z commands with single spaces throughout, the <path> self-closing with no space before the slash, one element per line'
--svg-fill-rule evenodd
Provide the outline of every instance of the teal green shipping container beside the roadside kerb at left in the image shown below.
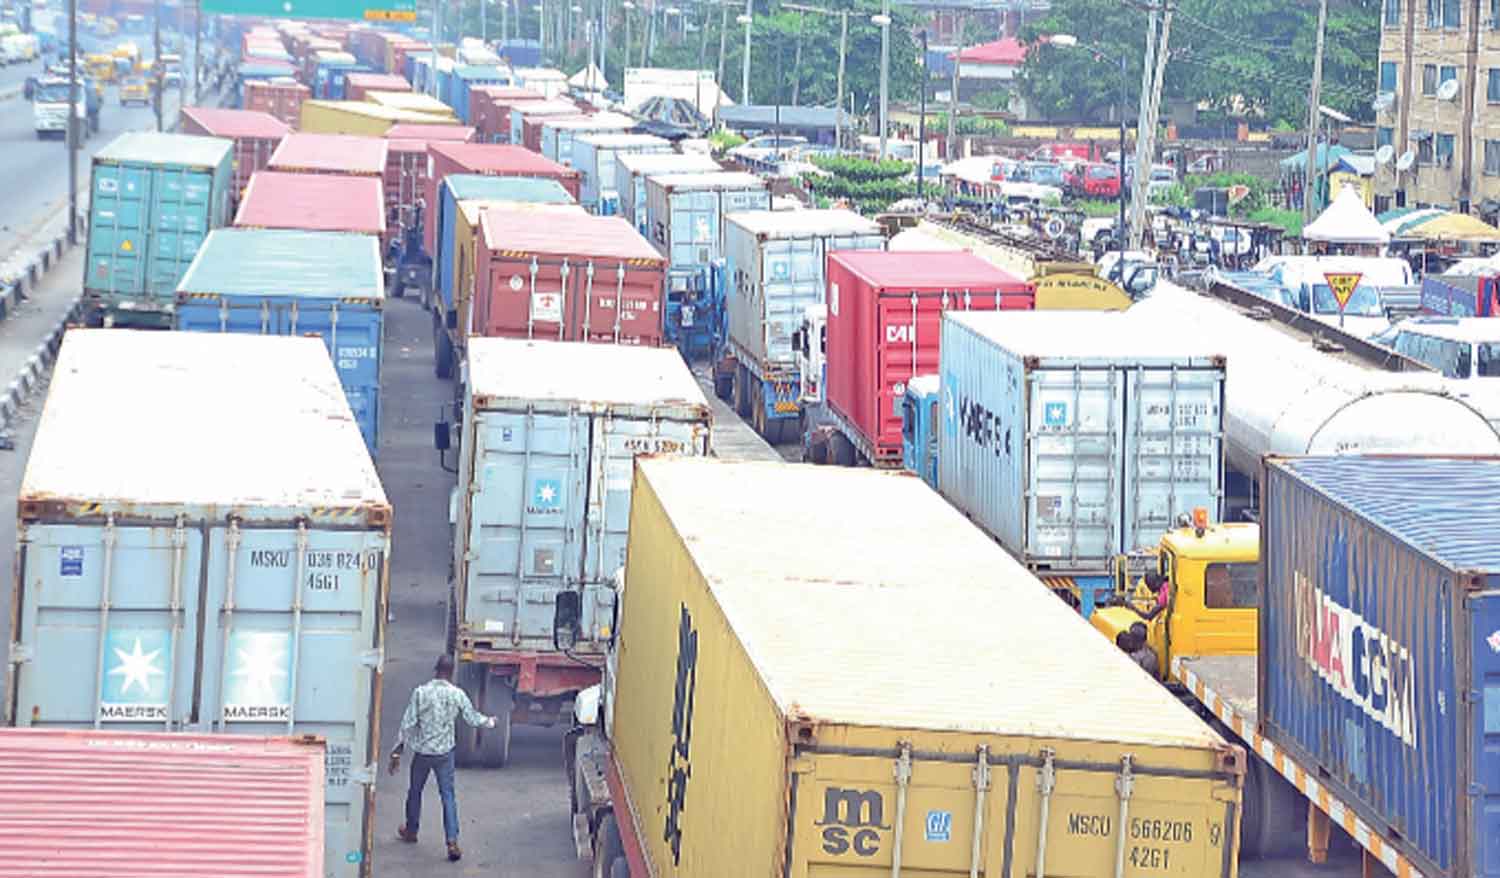
<path fill-rule="evenodd" d="M 122 134 L 94 153 L 84 263 L 90 323 L 171 326 L 172 291 L 230 221 L 234 141 Z"/>

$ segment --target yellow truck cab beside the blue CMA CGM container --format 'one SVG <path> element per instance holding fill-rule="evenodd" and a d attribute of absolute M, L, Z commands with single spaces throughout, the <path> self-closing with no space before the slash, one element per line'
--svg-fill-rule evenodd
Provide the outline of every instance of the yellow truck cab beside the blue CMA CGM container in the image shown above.
<path fill-rule="evenodd" d="M 1254 656 L 1257 645 L 1260 527 L 1209 524 L 1206 510 L 1167 531 L 1155 555 L 1155 570 L 1170 582 L 1167 611 L 1148 620 L 1156 603 L 1144 578 L 1131 579 L 1140 564 L 1120 558 L 1116 600 L 1089 623 L 1114 641 L 1137 621 L 1146 623 L 1161 678 L 1178 656 Z"/>

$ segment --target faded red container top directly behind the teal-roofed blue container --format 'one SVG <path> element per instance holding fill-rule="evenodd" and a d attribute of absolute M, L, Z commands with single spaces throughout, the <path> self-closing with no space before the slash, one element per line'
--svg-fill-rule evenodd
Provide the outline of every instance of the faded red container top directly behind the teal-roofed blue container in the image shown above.
<path fill-rule="evenodd" d="M 384 236 L 381 188 L 370 177 L 261 171 L 250 177 L 234 225 Z"/>

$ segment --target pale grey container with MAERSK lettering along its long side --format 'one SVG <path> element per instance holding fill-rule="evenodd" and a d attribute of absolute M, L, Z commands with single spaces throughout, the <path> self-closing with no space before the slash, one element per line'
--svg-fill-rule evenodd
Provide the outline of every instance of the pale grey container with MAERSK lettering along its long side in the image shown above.
<path fill-rule="evenodd" d="M 942 317 L 938 489 L 1028 567 L 1113 591 L 1194 509 L 1222 521 L 1226 360 L 1122 314 Z M 1048 581 L 1048 584 L 1052 584 Z"/>

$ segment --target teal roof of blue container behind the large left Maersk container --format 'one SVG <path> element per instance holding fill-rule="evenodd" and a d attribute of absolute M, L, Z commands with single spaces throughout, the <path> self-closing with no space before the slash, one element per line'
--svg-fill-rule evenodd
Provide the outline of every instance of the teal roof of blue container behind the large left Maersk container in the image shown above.
<path fill-rule="evenodd" d="M 216 228 L 177 293 L 380 302 L 386 297 L 380 240 L 348 231 Z"/>

